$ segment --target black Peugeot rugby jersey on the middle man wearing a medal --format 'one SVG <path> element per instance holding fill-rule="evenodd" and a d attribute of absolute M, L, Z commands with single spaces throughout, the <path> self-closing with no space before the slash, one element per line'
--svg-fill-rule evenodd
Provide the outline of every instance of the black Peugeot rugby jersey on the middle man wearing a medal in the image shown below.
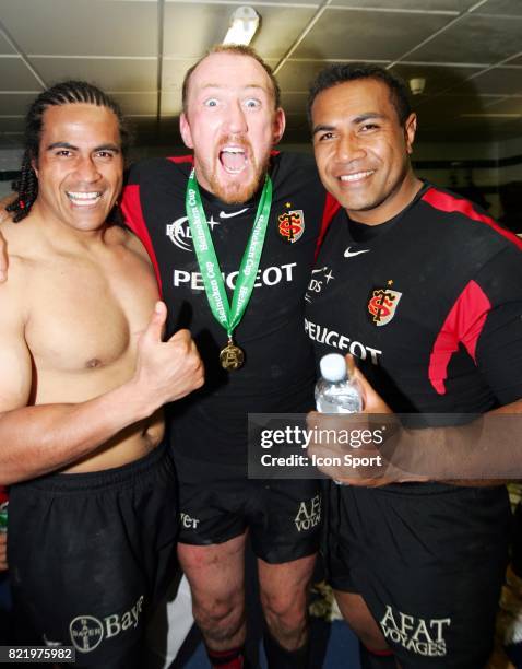
<path fill-rule="evenodd" d="M 191 156 L 135 164 L 122 209 L 155 263 L 168 332 L 189 328 L 205 365 L 204 387 L 173 406 L 174 448 L 186 457 L 244 463 L 248 412 L 312 407 L 315 364 L 302 331 L 304 295 L 318 235 L 337 206 L 310 156 L 272 155 L 273 201 L 264 247 L 252 296 L 234 334 L 245 365 L 228 373 L 218 361 L 226 332 L 210 309 L 187 221 L 191 168 Z M 259 193 L 245 204 L 224 204 L 203 189 L 201 196 L 230 302 Z"/>

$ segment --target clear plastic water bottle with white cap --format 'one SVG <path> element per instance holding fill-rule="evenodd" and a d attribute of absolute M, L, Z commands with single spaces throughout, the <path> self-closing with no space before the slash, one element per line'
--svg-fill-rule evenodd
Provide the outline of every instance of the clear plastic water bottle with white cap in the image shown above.
<path fill-rule="evenodd" d="M 316 385 L 316 407 L 321 413 L 357 413 L 363 410 L 360 385 L 346 371 L 339 353 L 321 357 L 321 378 Z"/>

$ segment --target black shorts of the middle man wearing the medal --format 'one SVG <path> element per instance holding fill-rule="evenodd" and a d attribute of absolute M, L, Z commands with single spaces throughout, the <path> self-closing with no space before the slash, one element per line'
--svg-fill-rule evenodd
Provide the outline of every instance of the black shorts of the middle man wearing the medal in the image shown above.
<path fill-rule="evenodd" d="M 181 543 L 209 545 L 248 528 L 253 552 L 271 564 L 319 549 L 321 493 L 315 480 L 248 479 L 246 469 L 175 455 Z"/>

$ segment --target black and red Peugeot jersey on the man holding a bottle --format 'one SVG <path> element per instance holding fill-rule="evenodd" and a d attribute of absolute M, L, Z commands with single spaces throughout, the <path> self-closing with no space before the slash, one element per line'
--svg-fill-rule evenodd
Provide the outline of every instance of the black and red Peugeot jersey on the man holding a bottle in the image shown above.
<path fill-rule="evenodd" d="M 430 185 L 379 226 L 340 211 L 306 295 L 318 360 L 353 353 L 395 412 L 483 413 L 520 399 L 521 249 Z"/>

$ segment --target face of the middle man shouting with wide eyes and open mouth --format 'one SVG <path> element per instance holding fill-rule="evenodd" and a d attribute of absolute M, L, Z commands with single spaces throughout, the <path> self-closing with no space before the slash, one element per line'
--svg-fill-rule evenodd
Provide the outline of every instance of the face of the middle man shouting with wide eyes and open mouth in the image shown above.
<path fill-rule="evenodd" d="M 211 54 L 190 75 L 181 137 L 194 151 L 199 184 L 222 201 L 252 197 L 284 127 L 270 78 L 253 58 Z"/>

